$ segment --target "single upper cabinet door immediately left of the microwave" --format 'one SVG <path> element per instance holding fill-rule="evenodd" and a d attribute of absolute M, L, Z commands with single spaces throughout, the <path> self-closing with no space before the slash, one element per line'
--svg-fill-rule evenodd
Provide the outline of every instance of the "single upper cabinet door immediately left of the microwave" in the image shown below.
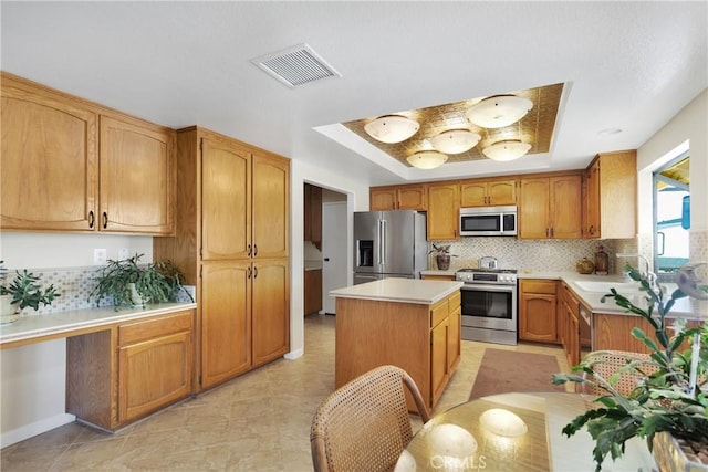
<path fill-rule="evenodd" d="M 428 241 L 459 239 L 459 186 L 428 187 Z"/>

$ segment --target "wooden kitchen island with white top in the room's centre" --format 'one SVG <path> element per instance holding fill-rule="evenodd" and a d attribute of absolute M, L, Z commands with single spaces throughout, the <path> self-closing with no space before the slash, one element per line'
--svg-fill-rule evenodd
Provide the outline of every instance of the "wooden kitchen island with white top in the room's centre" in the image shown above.
<path fill-rule="evenodd" d="M 460 286 L 384 279 L 331 291 L 336 297 L 335 387 L 392 364 L 413 377 L 431 410 L 460 359 Z"/>

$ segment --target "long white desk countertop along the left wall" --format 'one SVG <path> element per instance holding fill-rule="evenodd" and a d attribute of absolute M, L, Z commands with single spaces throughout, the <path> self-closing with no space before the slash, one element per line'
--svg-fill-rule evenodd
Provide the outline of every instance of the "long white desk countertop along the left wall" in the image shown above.
<path fill-rule="evenodd" d="M 69 310 L 45 315 L 23 315 L 17 322 L 0 326 L 0 345 L 24 339 L 41 338 L 56 334 L 111 325 L 114 323 L 163 315 L 180 310 L 194 310 L 196 303 L 160 303 L 147 307 L 113 306 L 101 308 Z"/>

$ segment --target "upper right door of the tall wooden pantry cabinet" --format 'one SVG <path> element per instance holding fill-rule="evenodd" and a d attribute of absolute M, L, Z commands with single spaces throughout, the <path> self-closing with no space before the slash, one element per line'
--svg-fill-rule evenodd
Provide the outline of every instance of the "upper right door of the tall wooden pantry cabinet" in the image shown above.
<path fill-rule="evenodd" d="M 290 241 L 290 160 L 254 154 L 252 172 L 252 256 L 287 256 Z"/>

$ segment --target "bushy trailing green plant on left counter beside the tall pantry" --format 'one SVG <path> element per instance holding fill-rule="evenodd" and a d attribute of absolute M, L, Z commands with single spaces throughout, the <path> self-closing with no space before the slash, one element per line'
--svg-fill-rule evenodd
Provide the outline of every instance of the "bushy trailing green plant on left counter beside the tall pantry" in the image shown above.
<path fill-rule="evenodd" d="M 177 292 L 183 290 L 181 272 L 170 261 L 140 264 L 144 254 L 114 261 L 98 270 L 98 281 L 88 294 L 88 301 L 95 298 L 96 306 L 104 297 L 113 298 L 117 311 L 121 306 L 143 306 L 147 303 L 175 301 Z M 189 295 L 189 293 L 187 293 Z M 191 298 L 191 295 L 189 295 Z"/>

